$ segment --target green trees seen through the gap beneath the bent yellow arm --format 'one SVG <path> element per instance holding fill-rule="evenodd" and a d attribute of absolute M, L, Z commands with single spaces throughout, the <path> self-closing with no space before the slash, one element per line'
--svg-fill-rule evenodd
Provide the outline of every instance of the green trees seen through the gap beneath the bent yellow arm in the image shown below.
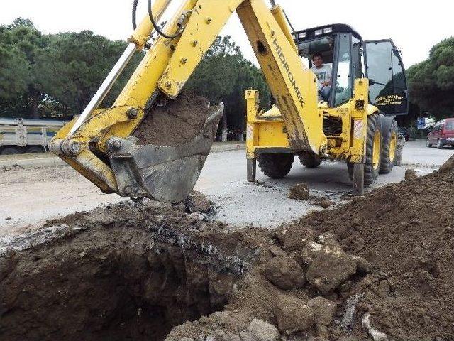
<path fill-rule="evenodd" d="M 245 60 L 230 36 L 217 37 L 186 88 L 207 97 L 212 103 L 224 102 L 229 129 L 242 131 L 245 117 L 245 90 L 259 90 L 262 106 L 270 103 L 270 90 L 260 69 Z"/>

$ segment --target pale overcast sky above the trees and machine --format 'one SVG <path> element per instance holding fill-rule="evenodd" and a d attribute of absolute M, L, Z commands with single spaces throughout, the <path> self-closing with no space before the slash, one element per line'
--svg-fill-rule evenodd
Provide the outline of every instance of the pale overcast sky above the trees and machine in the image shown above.
<path fill-rule="evenodd" d="M 146 1 L 139 1 L 138 18 L 146 14 Z M 181 1 L 173 0 L 169 11 Z M 434 44 L 454 36 L 454 1 L 275 1 L 287 12 L 296 30 L 329 23 L 348 23 L 364 40 L 392 38 L 402 50 L 406 67 L 425 60 Z M 90 30 L 114 40 L 126 40 L 132 31 L 132 0 L 1 2 L 0 25 L 22 17 L 31 19 L 43 33 Z M 240 45 L 245 57 L 257 64 L 236 14 L 228 21 L 221 35 L 230 35 Z"/>

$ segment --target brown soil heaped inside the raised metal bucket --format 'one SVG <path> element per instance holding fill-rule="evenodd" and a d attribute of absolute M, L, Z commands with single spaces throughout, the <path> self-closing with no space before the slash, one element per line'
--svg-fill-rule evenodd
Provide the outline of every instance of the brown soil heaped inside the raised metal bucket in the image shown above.
<path fill-rule="evenodd" d="M 138 138 L 139 144 L 180 146 L 201 133 L 206 118 L 216 109 L 209 107 L 206 98 L 183 92 L 169 99 L 163 107 L 155 105 L 133 136 Z"/>

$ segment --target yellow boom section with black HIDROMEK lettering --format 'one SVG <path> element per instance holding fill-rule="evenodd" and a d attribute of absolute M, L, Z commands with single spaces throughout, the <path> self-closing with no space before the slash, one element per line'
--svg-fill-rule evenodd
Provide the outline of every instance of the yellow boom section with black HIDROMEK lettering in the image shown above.
<path fill-rule="evenodd" d="M 326 136 L 314 73 L 301 63 L 265 1 L 244 1 L 237 13 L 277 101 L 292 149 L 319 154 Z"/>

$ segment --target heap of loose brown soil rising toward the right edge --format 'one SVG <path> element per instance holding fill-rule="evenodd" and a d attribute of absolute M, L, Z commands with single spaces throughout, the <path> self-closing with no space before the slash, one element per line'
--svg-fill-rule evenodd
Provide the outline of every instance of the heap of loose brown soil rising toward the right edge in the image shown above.
<path fill-rule="evenodd" d="M 342 298 L 362 295 L 354 335 L 364 335 L 367 313 L 373 328 L 392 340 L 454 340 L 453 193 L 454 156 L 438 172 L 287 227 L 287 239 L 307 229 L 331 232 L 344 251 L 372 265 L 372 274 L 338 290 Z"/>

